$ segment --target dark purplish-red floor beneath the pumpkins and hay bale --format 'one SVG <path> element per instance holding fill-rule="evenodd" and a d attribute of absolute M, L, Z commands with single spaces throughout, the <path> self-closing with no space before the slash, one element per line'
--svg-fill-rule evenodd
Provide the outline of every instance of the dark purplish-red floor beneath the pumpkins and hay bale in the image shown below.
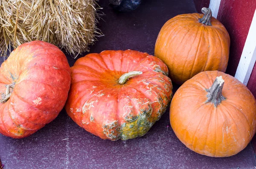
<path fill-rule="evenodd" d="M 108 0 L 100 0 L 99 4 L 106 14 L 105 21 L 99 23 L 105 36 L 90 52 L 134 49 L 154 54 L 154 43 L 163 24 L 177 14 L 196 12 L 193 0 L 144 0 L 132 13 L 113 11 Z M 67 57 L 72 66 L 76 60 Z M 0 59 L 2 63 L 3 58 Z M 30 137 L 15 140 L 0 135 L 0 159 L 4 169 L 256 168 L 251 144 L 232 157 L 210 158 L 187 149 L 170 127 L 167 131 L 167 125 L 169 112 L 143 137 L 102 140 L 77 126 L 63 110 L 52 123 Z"/>

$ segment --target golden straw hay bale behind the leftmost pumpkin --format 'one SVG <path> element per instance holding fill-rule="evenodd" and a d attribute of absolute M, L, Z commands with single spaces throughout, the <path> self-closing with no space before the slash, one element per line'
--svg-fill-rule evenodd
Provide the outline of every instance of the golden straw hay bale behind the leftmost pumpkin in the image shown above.
<path fill-rule="evenodd" d="M 43 40 L 75 55 L 88 51 L 95 37 L 95 0 L 0 0 L 0 53 Z"/>

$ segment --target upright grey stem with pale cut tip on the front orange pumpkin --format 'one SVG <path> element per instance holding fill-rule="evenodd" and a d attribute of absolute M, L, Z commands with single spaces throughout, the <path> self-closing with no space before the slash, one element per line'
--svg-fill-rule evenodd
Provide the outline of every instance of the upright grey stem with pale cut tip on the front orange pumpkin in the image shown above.
<path fill-rule="evenodd" d="M 221 103 L 222 100 L 226 100 L 226 98 L 222 95 L 222 89 L 224 86 L 224 80 L 222 76 L 216 77 L 212 86 L 209 89 L 205 89 L 207 94 L 206 103 L 212 102 L 215 107 Z"/>

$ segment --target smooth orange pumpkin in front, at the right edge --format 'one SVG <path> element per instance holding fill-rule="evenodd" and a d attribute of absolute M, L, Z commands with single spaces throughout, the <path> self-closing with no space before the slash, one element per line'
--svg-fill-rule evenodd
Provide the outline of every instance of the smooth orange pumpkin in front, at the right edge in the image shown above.
<path fill-rule="evenodd" d="M 228 157 L 244 149 L 256 132 L 256 100 L 235 77 L 201 72 L 175 93 L 170 122 L 189 149 L 211 157 Z"/>

